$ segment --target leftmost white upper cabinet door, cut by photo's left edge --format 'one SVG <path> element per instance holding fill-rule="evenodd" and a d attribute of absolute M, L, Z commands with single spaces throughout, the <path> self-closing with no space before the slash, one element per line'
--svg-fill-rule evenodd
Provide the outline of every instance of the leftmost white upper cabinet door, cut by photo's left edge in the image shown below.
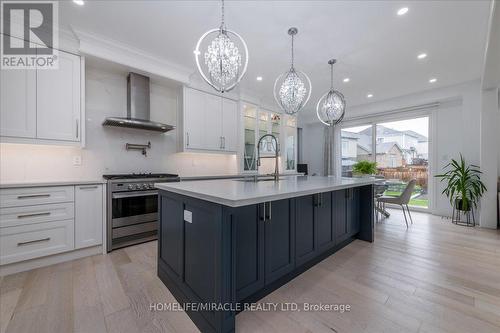
<path fill-rule="evenodd" d="M 36 70 L 2 69 L 0 135 L 36 137 Z"/>

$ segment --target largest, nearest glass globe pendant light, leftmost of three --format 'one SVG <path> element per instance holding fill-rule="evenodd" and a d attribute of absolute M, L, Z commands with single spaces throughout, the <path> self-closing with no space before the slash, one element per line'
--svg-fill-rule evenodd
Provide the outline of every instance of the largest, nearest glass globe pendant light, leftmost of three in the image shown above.
<path fill-rule="evenodd" d="M 243 49 L 243 54 L 237 44 Z M 200 48 L 205 49 L 203 55 Z M 218 92 L 230 91 L 245 75 L 248 66 L 247 44 L 239 34 L 226 28 L 224 0 L 221 4 L 220 27 L 208 30 L 200 37 L 194 55 L 201 77 Z"/>

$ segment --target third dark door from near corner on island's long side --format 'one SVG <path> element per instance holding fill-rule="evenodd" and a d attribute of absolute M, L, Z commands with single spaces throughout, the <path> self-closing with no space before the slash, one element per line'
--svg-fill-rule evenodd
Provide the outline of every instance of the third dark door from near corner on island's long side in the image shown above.
<path fill-rule="evenodd" d="M 317 195 L 295 199 L 295 261 L 297 266 L 316 255 L 314 210 Z M 331 222 L 330 222 L 331 224 Z"/>

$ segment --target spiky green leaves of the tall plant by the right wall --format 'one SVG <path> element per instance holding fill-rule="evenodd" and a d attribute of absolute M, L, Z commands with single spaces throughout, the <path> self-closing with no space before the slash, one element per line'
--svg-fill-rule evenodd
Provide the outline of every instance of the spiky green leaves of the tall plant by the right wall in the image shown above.
<path fill-rule="evenodd" d="M 467 165 L 460 154 L 460 161 L 452 159 L 444 169 L 446 172 L 436 177 L 440 178 L 441 182 L 446 182 L 442 193 L 448 197 L 451 205 L 464 212 L 476 208 L 479 199 L 486 191 L 486 186 L 481 181 L 482 172 L 479 167 Z"/>

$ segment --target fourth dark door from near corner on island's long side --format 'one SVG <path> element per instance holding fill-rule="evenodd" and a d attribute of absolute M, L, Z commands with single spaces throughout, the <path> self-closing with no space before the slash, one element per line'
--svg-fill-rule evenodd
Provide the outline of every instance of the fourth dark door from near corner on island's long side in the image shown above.
<path fill-rule="evenodd" d="M 320 193 L 314 208 L 317 251 L 323 252 L 335 246 L 335 228 L 332 220 L 332 192 Z"/>

